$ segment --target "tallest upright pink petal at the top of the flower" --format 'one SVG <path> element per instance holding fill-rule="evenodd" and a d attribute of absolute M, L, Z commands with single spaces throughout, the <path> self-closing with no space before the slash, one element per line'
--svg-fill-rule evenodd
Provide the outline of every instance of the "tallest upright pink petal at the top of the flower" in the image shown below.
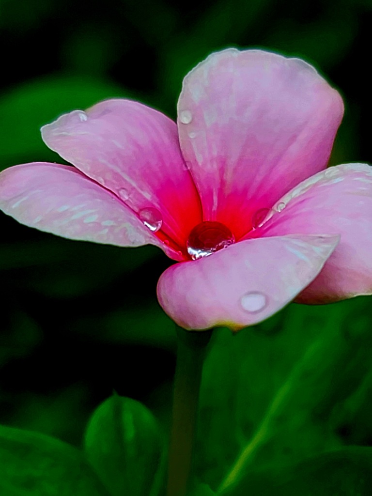
<path fill-rule="evenodd" d="M 340 95 L 306 62 L 260 50 L 210 55 L 178 103 L 204 220 L 244 236 L 255 211 L 326 166 L 342 115 Z"/>

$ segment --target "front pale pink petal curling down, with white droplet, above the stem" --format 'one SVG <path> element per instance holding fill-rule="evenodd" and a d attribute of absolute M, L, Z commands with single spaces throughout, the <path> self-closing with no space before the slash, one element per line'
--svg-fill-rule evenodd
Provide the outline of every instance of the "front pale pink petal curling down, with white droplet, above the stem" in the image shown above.
<path fill-rule="evenodd" d="M 186 329 L 233 330 L 269 317 L 320 272 L 338 236 L 282 236 L 242 241 L 160 277 L 162 308 Z"/>

